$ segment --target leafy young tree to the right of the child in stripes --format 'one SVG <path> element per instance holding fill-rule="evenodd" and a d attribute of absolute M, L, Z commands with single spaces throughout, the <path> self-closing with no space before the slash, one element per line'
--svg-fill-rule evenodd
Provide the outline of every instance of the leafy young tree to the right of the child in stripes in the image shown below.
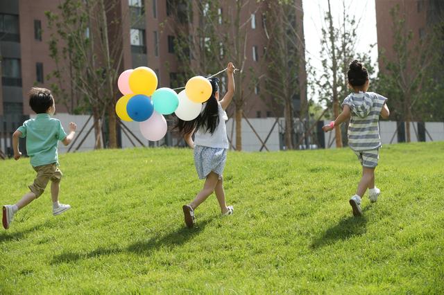
<path fill-rule="evenodd" d="M 410 122 L 429 114 L 430 106 L 439 105 L 439 100 L 434 98 L 442 91 L 438 82 L 438 72 L 442 73 L 442 69 L 440 65 L 436 71 L 436 65 L 442 59 L 443 25 L 441 22 L 430 27 L 418 40 L 407 28 L 399 5 L 391 9 L 390 15 L 393 19 L 393 58 L 388 60 L 384 52 L 379 53 L 384 64 L 379 73 L 379 89 L 390 97 L 392 116 L 405 121 L 407 142 L 410 142 Z"/>

